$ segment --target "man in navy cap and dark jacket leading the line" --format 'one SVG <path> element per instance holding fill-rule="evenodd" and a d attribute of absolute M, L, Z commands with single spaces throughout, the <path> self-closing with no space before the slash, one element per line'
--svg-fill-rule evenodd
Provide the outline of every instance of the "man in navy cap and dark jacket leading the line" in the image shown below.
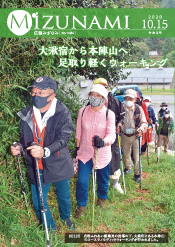
<path fill-rule="evenodd" d="M 59 203 L 60 217 L 72 230 L 74 224 L 70 219 L 71 202 L 69 181 L 74 175 L 72 159 L 69 155 L 68 141 L 74 126 L 68 108 L 55 98 L 56 82 L 47 76 L 38 77 L 31 89 L 33 106 L 18 112 L 21 118 L 20 143 L 11 146 L 13 155 L 25 155 L 29 179 L 31 182 L 33 206 L 41 224 L 41 202 L 36 176 L 35 159 L 39 159 L 40 180 L 46 208 L 47 227 L 56 230 L 56 225 L 47 204 L 50 184 L 54 183 Z M 38 145 L 30 146 L 35 142 Z"/>

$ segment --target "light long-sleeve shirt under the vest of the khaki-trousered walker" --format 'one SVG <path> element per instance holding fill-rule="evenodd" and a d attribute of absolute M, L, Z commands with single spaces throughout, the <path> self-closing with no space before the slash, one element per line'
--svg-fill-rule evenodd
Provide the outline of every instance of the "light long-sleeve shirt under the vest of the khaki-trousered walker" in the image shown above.
<path fill-rule="evenodd" d="M 126 133 L 126 129 L 132 128 L 133 133 L 134 133 L 134 132 L 136 132 L 135 121 L 134 121 L 135 105 L 133 105 L 133 107 L 130 110 L 128 110 L 128 108 L 124 105 L 124 109 L 125 109 L 125 119 L 124 119 L 124 125 L 122 126 L 122 131 L 124 133 Z M 142 107 L 139 106 L 139 109 L 140 109 L 139 129 L 141 129 L 142 132 L 146 132 L 148 124 L 146 121 L 145 113 L 144 113 Z"/>

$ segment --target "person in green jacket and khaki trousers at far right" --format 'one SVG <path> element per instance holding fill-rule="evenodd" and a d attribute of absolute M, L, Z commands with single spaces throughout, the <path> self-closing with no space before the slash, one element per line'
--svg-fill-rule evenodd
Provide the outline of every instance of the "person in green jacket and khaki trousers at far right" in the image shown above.
<path fill-rule="evenodd" d="M 164 116 L 159 118 L 158 123 L 159 128 L 157 130 L 157 147 L 160 147 L 162 145 L 162 141 L 164 141 L 164 152 L 167 152 L 169 137 L 171 133 L 174 133 L 174 122 L 172 117 L 170 116 L 170 111 L 168 109 L 165 110 Z"/>

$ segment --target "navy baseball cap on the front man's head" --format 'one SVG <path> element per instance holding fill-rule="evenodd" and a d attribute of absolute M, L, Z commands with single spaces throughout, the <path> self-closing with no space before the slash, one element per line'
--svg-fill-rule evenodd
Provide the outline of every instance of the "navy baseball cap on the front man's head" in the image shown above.
<path fill-rule="evenodd" d="M 48 76 L 40 76 L 40 77 L 36 78 L 33 82 L 33 85 L 28 87 L 28 88 L 32 88 L 32 87 L 36 87 L 36 88 L 39 88 L 41 90 L 51 88 L 54 91 L 56 91 L 57 84 L 53 79 L 51 79 Z"/>

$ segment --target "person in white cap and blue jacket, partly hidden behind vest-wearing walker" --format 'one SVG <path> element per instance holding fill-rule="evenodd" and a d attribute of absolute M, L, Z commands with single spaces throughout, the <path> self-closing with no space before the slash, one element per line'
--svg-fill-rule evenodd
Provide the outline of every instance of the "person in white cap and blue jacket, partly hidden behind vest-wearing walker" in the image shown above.
<path fill-rule="evenodd" d="M 146 104 L 146 107 L 147 107 L 147 110 L 148 110 L 148 116 L 149 116 L 148 128 L 149 128 L 149 126 L 151 126 L 152 129 L 153 129 L 153 124 L 155 124 L 155 128 L 157 130 L 158 127 L 159 127 L 159 124 L 158 124 L 158 121 L 157 121 L 157 119 L 155 117 L 154 109 L 150 106 L 151 98 L 149 96 L 145 96 L 143 102 Z M 145 135 L 146 135 L 146 133 L 145 133 Z M 144 145 L 142 145 L 142 148 L 141 148 L 141 153 L 142 154 L 145 154 L 146 148 L 147 148 L 147 137 L 145 137 L 145 138 L 146 138 L 145 139 L 146 141 L 145 141 Z"/>

